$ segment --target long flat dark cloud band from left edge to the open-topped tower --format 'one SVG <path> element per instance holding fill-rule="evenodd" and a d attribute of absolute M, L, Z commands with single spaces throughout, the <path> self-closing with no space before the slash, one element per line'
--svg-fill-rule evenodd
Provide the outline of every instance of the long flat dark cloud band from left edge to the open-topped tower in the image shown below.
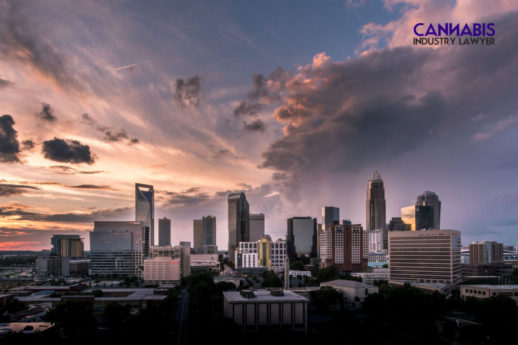
<path fill-rule="evenodd" d="M 110 208 L 94 211 L 85 214 L 63 213 L 63 214 L 42 214 L 26 212 L 17 207 L 9 205 L 0 206 L 0 218 L 16 216 L 19 220 L 30 221 L 52 221 L 63 223 L 91 223 L 94 220 L 113 220 L 128 217 L 131 214 L 130 207 Z"/>

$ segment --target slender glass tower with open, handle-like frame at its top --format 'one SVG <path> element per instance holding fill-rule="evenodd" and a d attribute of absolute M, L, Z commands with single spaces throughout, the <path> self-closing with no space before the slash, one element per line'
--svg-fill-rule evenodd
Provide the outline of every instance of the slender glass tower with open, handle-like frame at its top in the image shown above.
<path fill-rule="evenodd" d="M 153 186 L 135 184 L 135 221 L 149 228 L 149 245 L 155 244 L 155 191 Z"/>

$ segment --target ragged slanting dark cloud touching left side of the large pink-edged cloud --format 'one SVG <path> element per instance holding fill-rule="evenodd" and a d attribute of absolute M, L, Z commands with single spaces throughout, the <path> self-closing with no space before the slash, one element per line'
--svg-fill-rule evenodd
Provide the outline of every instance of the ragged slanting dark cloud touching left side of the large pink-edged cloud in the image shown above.
<path fill-rule="evenodd" d="M 279 100 L 280 92 L 283 90 L 286 78 L 289 76 L 281 67 L 271 72 L 268 78 L 263 74 L 253 74 L 252 91 L 243 99 L 239 106 L 234 109 L 234 115 L 253 115 L 264 108 L 265 104 Z"/>

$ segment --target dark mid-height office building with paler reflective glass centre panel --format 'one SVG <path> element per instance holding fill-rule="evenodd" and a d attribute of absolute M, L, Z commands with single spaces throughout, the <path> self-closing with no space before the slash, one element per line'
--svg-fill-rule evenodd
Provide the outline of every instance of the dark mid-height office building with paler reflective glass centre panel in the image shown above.
<path fill-rule="evenodd" d="M 293 217 L 287 220 L 287 250 L 290 258 L 316 257 L 316 218 Z"/>

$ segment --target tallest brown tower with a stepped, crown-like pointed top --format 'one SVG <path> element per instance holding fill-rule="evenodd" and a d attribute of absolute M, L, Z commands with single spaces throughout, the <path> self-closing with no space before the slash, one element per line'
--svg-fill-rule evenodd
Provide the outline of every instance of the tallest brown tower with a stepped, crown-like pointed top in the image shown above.
<path fill-rule="evenodd" d="M 372 173 L 367 184 L 365 208 L 365 230 L 381 230 L 383 232 L 383 249 L 386 249 L 388 239 L 385 218 L 385 189 L 383 179 L 377 171 Z"/>

